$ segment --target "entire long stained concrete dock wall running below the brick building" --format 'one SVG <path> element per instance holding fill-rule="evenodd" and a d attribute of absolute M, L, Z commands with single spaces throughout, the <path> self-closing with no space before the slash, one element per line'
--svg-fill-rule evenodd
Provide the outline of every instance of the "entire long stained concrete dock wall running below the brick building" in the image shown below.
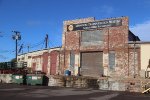
<path fill-rule="evenodd" d="M 100 90 L 142 92 L 150 79 L 144 78 L 110 78 L 99 79 L 85 76 L 59 76 L 51 75 L 48 86 L 72 87 L 72 88 L 96 88 Z"/>

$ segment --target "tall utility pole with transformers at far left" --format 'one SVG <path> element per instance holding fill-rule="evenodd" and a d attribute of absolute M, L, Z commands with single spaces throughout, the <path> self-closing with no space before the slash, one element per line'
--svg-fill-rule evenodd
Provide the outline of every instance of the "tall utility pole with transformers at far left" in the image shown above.
<path fill-rule="evenodd" d="M 13 40 L 15 40 L 16 43 L 16 62 L 17 62 L 17 55 L 18 55 L 18 40 L 21 40 L 21 35 L 20 32 L 18 31 L 12 31 L 13 33 L 15 33 L 14 35 L 12 35 Z"/>

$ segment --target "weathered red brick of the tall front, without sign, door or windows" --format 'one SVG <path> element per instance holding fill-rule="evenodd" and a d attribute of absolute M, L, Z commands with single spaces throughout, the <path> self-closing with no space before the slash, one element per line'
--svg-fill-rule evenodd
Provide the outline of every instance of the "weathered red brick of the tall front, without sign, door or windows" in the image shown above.
<path fill-rule="evenodd" d="M 122 19 L 122 25 L 117 27 L 101 28 L 104 32 L 104 41 L 101 46 L 82 46 L 81 32 L 82 31 L 69 31 L 67 32 L 67 25 L 87 23 L 95 21 L 94 18 L 79 19 L 64 21 L 63 29 L 63 49 L 65 51 L 64 68 L 69 67 L 70 51 L 76 50 L 79 55 L 80 52 L 85 51 L 103 51 L 103 67 L 104 75 L 116 75 L 116 76 L 128 76 L 129 75 L 129 49 L 128 49 L 128 17 L 120 17 Z M 115 51 L 115 70 L 109 73 L 109 51 Z M 112 76 L 113 77 L 113 76 Z"/>

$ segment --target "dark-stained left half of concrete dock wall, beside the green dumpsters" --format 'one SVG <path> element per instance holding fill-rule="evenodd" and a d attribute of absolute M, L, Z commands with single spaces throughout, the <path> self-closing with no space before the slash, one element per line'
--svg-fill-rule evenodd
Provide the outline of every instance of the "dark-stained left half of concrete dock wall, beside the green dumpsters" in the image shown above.
<path fill-rule="evenodd" d="M 98 88 L 97 79 L 83 76 L 48 76 L 48 86 L 72 88 Z"/>

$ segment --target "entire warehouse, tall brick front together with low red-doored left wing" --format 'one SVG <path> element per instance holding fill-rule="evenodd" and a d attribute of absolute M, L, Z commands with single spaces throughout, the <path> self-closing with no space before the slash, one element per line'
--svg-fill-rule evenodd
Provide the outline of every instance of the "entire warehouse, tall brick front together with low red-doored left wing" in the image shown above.
<path fill-rule="evenodd" d="M 28 62 L 31 72 L 47 75 L 70 70 L 71 75 L 90 77 L 138 77 L 146 65 L 145 47 L 137 41 L 129 30 L 128 17 L 68 20 L 63 22 L 61 48 L 22 54 L 18 61 Z"/>

